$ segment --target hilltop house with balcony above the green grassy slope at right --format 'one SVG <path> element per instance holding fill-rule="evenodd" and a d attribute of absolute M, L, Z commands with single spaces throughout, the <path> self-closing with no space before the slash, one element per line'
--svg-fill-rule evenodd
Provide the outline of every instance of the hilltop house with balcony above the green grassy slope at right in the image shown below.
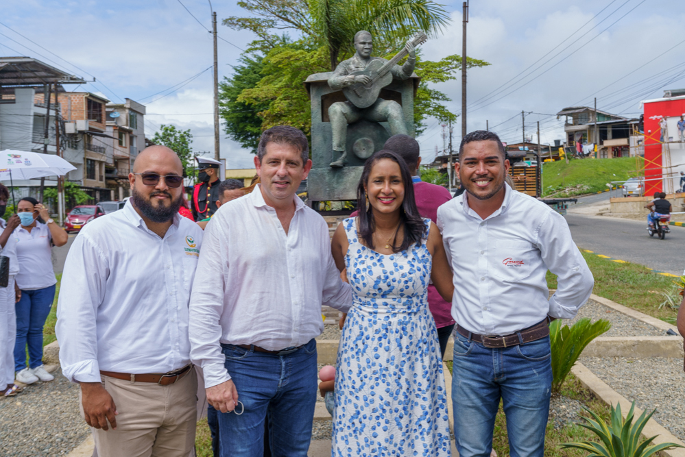
<path fill-rule="evenodd" d="M 557 119 L 566 117 L 564 132 L 566 147 L 575 150 L 597 143 L 597 158 L 627 157 L 637 153 L 636 140 L 631 140 L 633 125 L 638 119 L 595 110 L 588 106 L 570 106 L 557 112 Z"/>

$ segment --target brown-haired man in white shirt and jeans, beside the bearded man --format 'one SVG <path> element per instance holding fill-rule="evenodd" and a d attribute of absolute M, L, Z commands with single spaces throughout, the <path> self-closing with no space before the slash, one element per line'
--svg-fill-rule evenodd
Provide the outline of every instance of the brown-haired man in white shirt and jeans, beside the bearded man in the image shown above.
<path fill-rule="evenodd" d="M 347 311 L 350 285 L 328 225 L 296 195 L 311 169 L 307 137 L 266 130 L 254 192 L 229 201 L 204 234 L 190 304 L 191 359 L 219 414 L 222 457 L 307 456 L 317 395 L 323 305 Z"/>

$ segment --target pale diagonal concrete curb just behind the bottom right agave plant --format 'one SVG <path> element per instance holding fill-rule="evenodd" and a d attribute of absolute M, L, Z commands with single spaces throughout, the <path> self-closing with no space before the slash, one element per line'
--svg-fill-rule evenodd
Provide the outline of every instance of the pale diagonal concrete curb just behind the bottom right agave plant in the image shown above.
<path fill-rule="evenodd" d="M 592 371 L 590 371 L 587 367 L 582 365 L 581 363 L 577 363 L 572 369 L 571 372 L 578 378 L 586 388 L 588 388 L 595 397 L 601 399 L 602 402 L 608 405 L 616 405 L 620 404 L 621 405 L 621 413 L 623 414 L 623 417 L 626 417 L 627 412 L 630 410 L 630 402 L 623 397 L 620 393 L 614 391 L 608 384 L 603 382 L 601 379 L 597 378 Z M 640 414 L 642 414 L 642 410 L 640 408 L 635 408 L 634 414 L 636 417 L 639 417 Z M 656 436 L 654 441 L 652 442 L 653 444 L 660 444 L 660 443 L 675 443 L 679 444 L 682 446 L 685 446 L 685 443 L 677 439 L 669 430 L 666 430 L 663 425 L 655 421 L 654 419 L 649 419 L 647 421 L 647 425 L 645 425 L 645 428 L 642 429 L 642 438 L 651 438 L 652 436 Z M 665 457 L 685 457 L 685 449 L 671 449 L 668 451 L 662 451 L 659 454 Z"/>

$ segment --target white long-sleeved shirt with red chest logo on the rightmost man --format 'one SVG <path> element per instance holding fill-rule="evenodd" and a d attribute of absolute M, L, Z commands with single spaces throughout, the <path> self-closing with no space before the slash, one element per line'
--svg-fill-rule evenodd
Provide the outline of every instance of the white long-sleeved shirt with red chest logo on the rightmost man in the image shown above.
<path fill-rule="evenodd" d="M 468 193 L 437 210 L 454 271 L 452 317 L 470 332 L 507 335 L 551 317 L 572 319 L 594 279 L 561 214 L 505 184 L 502 206 L 481 217 Z M 548 300 L 547 270 L 558 276 Z"/>

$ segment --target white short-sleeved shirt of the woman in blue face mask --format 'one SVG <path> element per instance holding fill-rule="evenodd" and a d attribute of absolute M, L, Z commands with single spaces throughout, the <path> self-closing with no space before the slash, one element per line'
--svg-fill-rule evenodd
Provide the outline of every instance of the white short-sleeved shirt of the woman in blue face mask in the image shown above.
<path fill-rule="evenodd" d="M 13 236 L 21 270 L 16 275 L 16 285 L 24 291 L 31 291 L 57 284 L 55 271 L 52 269 L 50 228 L 36 221 L 36 227 L 31 229 L 31 233 L 19 225 L 14 229 Z"/>

